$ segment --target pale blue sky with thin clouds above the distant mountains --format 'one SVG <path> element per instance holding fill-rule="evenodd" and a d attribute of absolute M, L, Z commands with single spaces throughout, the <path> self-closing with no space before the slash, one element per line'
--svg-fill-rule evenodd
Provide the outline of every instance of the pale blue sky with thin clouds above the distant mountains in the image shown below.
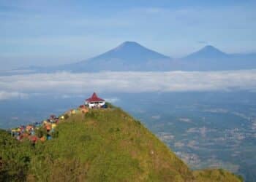
<path fill-rule="evenodd" d="M 212 44 L 256 52 L 255 1 L 0 0 L 2 68 L 57 65 L 138 41 L 179 58 Z"/>

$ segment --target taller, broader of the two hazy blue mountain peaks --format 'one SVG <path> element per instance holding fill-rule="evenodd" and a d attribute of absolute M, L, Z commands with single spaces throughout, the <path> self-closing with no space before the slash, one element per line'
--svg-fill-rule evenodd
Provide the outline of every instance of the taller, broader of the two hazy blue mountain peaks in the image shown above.
<path fill-rule="evenodd" d="M 149 50 L 134 41 L 125 41 L 102 55 L 69 65 L 75 72 L 83 71 L 165 71 L 171 59 Z"/>

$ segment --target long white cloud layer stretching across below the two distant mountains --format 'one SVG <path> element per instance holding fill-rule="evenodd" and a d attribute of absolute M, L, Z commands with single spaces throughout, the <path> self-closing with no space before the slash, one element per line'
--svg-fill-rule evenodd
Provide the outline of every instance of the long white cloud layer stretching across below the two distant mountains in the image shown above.
<path fill-rule="evenodd" d="M 256 90 L 256 70 L 100 72 L 0 76 L 0 100 L 29 94 Z M 25 97 L 26 98 L 26 97 Z"/>

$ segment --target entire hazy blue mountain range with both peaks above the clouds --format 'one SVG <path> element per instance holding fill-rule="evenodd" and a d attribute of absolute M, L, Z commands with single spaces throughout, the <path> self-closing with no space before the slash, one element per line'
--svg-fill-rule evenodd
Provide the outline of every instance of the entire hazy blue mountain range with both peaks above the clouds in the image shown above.
<path fill-rule="evenodd" d="M 256 68 L 256 53 L 228 54 L 216 47 L 206 45 L 184 58 L 173 59 L 135 41 L 124 41 L 107 52 L 77 63 L 45 68 L 31 66 L 26 69 L 31 69 L 32 73 L 56 71 L 83 73 L 100 71 L 227 71 L 252 68 Z"/>

